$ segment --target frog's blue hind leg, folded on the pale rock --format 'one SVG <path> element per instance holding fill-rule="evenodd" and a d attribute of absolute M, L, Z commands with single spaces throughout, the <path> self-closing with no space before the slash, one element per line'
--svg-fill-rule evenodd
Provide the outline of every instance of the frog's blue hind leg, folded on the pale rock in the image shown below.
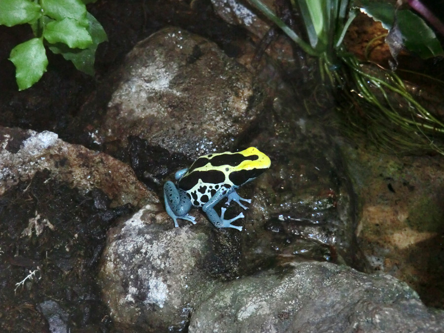
<path fill-rule="evenodd" d="M 173 219 L 176 228 L 179 227 L 177 219 L 196 224 L 195 218 L 188 214 L 192 205 L 185 191 L 177 189 L 173 182 L 166 182 L 163 185 L 163 197 L 165 199 L 165 210 Z"/>

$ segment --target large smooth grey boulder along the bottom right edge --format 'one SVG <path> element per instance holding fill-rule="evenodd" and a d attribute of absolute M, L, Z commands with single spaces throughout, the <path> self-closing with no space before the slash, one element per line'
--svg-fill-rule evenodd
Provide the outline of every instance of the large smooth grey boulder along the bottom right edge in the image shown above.
<path fill-rule="evenodd" d="M 389 275 L 294 262 L 221 286 L 196 308 L 189 332 L 442 332 L 443 319 Z"/>

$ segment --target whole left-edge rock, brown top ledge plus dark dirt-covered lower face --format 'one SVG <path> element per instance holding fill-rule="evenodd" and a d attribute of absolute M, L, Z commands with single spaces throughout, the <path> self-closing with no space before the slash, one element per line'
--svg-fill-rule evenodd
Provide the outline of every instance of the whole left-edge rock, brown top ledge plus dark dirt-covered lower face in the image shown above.
<path fill-rule="evenodd" d="M 122 162 L 55 133 L 0 137 L 0 331 L 106 332 L 96 283 L 106 231 L 156 199 Z"/>

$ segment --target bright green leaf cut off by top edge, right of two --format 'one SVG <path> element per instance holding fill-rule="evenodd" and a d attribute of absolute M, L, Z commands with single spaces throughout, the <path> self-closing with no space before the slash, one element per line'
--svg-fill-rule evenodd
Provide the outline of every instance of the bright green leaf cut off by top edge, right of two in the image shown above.
<path fill-rule="evenodd" d="M 76 19 L 84 27 L 87 26 L 86 6 L 81 0 L 41 0 L 44 14 L 62 21 L 69 17 Z"/>

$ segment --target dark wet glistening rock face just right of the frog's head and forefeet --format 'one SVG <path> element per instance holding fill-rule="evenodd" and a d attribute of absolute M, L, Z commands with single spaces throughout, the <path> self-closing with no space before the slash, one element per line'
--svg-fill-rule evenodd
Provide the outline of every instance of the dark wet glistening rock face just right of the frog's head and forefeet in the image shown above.
<path fill-rule="evenodd" d="M 353 233 L 356 198 L 339 149 L 328 127 L 285 98 L 275 98 L 266 121 L 273 125 L 253 141 L 270 152 L 272 167 L 255 181 L 259 200 L 252 210 L 259 219 L 244 239 L 249 259 L 296 255 L 365 265 Z"/>

